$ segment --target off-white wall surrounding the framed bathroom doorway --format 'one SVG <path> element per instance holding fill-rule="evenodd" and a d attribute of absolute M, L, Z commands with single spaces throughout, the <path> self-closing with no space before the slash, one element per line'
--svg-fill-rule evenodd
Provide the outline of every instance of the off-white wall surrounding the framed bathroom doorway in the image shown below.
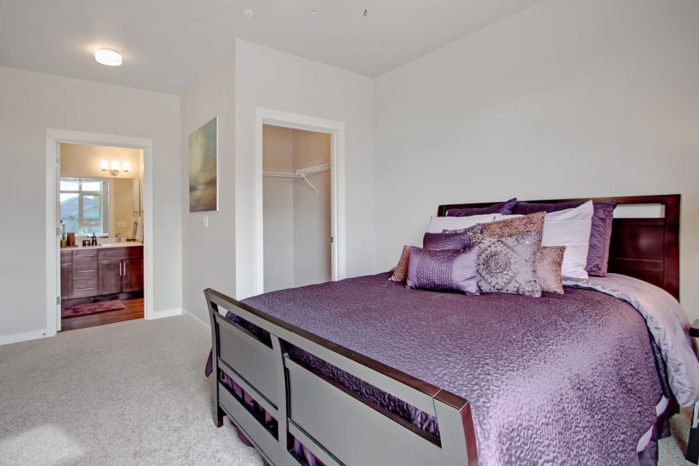
<path fill-rule="evenodd" d="M 154 310 L 181 307 L 180 99 L 0 67 L 0 342 L 46 329 L 46 129 L 153 140 Z"/>

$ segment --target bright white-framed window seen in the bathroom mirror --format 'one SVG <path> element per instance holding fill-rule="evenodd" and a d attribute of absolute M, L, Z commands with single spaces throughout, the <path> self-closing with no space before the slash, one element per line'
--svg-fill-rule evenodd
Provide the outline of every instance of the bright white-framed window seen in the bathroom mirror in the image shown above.
<path fill-rule="evenodd" d="M 61 219 L 76 235 L 103 231 L 106 187 L 99 178 L 61 178 Z"/>

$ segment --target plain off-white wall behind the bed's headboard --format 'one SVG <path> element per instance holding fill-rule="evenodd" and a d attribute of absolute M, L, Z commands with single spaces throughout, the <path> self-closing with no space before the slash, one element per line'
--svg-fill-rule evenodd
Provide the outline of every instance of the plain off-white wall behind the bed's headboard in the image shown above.
<path fill-rule="evenodd" d="M 549 0 L 377 79 L 377 265 L 440 203 L 682 194 L 699 317 L 699 2 Z"/>

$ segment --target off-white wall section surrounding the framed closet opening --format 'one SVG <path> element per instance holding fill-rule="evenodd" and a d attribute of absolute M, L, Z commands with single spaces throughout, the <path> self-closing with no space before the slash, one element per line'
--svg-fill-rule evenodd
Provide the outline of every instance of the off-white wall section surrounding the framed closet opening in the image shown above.
<path fill-rule="evenodd" d="M 375 269 L 374 80 L 236 41 L 236 296 L 254 290 L 254 140 L 258 107 L 345 123 L 347 276 Z"/>

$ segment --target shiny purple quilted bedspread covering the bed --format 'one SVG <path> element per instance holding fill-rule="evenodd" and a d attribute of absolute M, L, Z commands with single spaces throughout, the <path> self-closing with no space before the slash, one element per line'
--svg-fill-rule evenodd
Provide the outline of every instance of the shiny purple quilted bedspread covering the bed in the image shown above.
<path fill-rule="evenodd" d="M 464 296 L 388 277 L 244 303 L 470 400 L 482 465 L 635 460 L 663 388 L 633 307 L 582 289 Z"/>

